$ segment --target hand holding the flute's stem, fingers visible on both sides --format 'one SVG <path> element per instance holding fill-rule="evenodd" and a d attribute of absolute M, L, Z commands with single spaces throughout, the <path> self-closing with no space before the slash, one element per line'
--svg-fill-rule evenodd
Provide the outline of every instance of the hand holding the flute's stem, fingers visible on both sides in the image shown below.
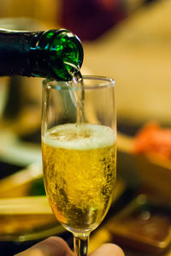
<path fill-rule="evenodd" d="M 51 236 L 15 256 L 74 256 L 74 253 L 62 238 Z M 124 253 L 120 247 L 109 243 L 103 244 L 89 256 L 124 256 Z"/>

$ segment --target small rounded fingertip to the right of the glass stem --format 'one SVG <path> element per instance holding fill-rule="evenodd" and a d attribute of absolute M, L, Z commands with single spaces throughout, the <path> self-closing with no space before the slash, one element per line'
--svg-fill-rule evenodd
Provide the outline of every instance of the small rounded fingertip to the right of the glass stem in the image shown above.
<path fill-rule="evenodd" d="M 113 243 L 106 243 L 99 247 L 95 252 L 91 253 L 90 256 L 125 256 L 120 247 Z"/>

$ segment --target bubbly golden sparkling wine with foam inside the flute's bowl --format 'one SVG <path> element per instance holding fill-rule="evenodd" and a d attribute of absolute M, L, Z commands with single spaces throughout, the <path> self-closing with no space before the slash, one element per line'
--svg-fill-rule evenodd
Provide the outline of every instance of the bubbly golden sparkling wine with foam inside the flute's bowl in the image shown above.
<path fill-rule="evenodd" d="M 84 131 L 74 124 L 60 127 L 43 138 L 46 193 L 67 229 L 92 230 L 106 215 L 115 188 L 115 134 L 99 125 Z"/>

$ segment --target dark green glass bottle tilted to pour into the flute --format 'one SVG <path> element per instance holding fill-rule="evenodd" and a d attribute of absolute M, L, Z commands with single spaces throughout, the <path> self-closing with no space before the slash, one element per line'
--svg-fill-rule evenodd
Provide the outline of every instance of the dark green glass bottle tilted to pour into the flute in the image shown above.
<path fill-rule="evenodd" d="M 71 80 L 81 67 L 80 39 L 66 29 L 45 32 L 0 30 L 0 76 Z"/>

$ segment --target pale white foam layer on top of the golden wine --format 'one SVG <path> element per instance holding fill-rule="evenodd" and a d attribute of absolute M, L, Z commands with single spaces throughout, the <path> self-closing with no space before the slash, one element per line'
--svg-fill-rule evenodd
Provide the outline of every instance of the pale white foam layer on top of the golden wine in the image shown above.
<path fill-rule="evenodd" d="M 88 136 L 80 135 L 80 131 Z M 50 129 L 43 137 L 46 145 L 73 150 L 103 148 L 113 145 L 115 140 L 116 135 L 112 128 L 88 123 L 80 127 L 72 123 L 59 125 Z"/>

